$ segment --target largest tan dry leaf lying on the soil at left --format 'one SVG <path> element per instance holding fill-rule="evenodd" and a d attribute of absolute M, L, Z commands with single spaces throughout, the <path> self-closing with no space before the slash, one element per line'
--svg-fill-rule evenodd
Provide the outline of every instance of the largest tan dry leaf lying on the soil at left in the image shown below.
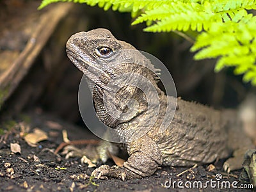
<path fill-rule="evenodd" d="M 35 147 L 35 144 L 37 144 L 40 141 L 44 141 L 48 139 L 48 136 L 46 132 L 42 131 L 39 128 L 35 128 L 32 133 L 27 134 L 24 137 L 25 141 L 31 145 L 32 147 Z"/>

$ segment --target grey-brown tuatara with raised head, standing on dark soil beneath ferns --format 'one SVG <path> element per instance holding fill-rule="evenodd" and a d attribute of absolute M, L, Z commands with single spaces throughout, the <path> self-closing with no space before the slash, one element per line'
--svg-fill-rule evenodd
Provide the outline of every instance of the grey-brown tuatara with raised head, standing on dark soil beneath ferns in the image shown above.
<path fill-rule="evenodd" d="M 244 152 L 254 147 L 243 133 L 243 126 L 235 111 L 217 111 L 180 98 L 177 99 L 177 106 L 172 108 L 175 110 L 172 123 L 161 132 L 159 127 L 163 117 L 168 115 L 166 100 L 175 102 L 176 99 L 166 96 L 158 88 L 159 79 L 150 60 L 132 45 L 117 40 L 108 29 L 76 33 L 68 39 L 66 47 L 68 58 L 88 77 L 89 86 L 93 87 L 93 104 L 97 116 L 105 125 L 116 130 L 117 137 L 125 140 L 124 150 L 129 154 L 123 166 L 102 165 L 94 170 L 92 175 L 98 179 L 101 176 L 123 180 L 142 178 L 152 175 L 158 166 L 212 163 L 216 159 L 230 157 L 233 153 L 234 156 L 223 165 L 229 172 L 241 168 Z M 133 51 L 132 54 L 129 50 Z M 143 65 L 137 65 L 134 61 Z M 113 62 L 120 64 L 111 65 Z M 117 76 L 125 73 L 146 77 L 153 84 L 158 98 L 151 93 L 145 95 L 140 88 L 127 84 L 120 86 L 118 92 L 111 92 L 108 83 L 115 82 Z M 129 79 L 127 82 L 131 83 Z M 111 115 L 111 110 L 104 106 L 103 95 L 112 102 L 118 113 Z M 151 97 L 150 106 L 148 97 Z M 136 113 L 133 110 L 134 105 L 129 106 L 131 99 L 137 101 Z M 157 105 L 159 113 L 156 122 L 147 130 L 145 114 L 150 116 Z M 130 116 L 124 118 L 125 115 Z M 131 140 L 134 134 L 144 129 L 147 130 L 145 134 Z M 135 132 L 129 134 L 129 131 Z"/>

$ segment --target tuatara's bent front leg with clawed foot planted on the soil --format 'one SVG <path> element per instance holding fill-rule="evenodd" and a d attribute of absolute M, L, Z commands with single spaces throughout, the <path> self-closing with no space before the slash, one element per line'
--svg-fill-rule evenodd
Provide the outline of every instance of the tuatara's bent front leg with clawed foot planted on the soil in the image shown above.
<path fill-rule="evenodd" d="M 161 151 L 147 135 L 127 143 L 129 158 L 123 166 L 102 165 L 92 172 L 98 179 L 101 176 L 117 179 L 135 179 L 152 175 L 162 164 Z"/>

